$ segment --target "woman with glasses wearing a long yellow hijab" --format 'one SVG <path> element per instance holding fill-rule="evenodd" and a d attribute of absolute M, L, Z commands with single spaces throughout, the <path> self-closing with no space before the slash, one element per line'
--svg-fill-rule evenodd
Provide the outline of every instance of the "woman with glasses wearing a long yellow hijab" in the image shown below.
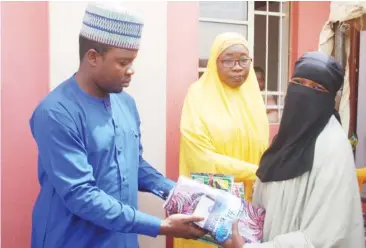
<path fill-rule="evenodd" d="M 216 37 L 206 72 L 188 90 L 180 131 L 180 175 L 233 175 L 245 183 L 250 198 L 251 182 L 268 147 L 269 126 L 248 43 L 241 35 Z M 175 239 L 174 247 L 214 246 Z"/>

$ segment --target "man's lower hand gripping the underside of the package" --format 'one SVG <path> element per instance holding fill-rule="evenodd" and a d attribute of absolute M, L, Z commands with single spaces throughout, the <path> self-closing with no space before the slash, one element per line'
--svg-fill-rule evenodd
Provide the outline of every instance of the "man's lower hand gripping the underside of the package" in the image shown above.
<path fill-rule="evenodd" d="M 204 230 L 194 224 L 204 218 L 184 214 L 174 214 L 166 218 L 160 227 L 160 235 L 175 238 L 198 239 L 206 234 Z"/>

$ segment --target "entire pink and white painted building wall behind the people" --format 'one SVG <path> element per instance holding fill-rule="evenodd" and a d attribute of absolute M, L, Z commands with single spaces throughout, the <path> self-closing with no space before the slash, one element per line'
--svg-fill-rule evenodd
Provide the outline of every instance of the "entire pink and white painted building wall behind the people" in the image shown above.
<path fill-rule="evenodd" d="M 198 2 L 124 3 L 146 21 L 136 74 L 128 89 L 140 110 L 145 157 L 176 179 L 181 107 L 189 84 L 197 78 Z M 1 2 L 1 224 L 5 248 L 30 244 L 31 213 L 39 186 L 37 149 L 28 121 L 47 92 L 77 70 L 77 36 L 85 5 Z M 293 6 L 292 62 L 305 50 L 317 48 L 329 12 L 329 4 L 323 2 L 293 2 Z M 316 17 L 305 20 L 314 10 Z M 272 135 L 277 127 L 271 126 Z M 162 201 L 149 195 L 140 199 L 143 211 L 164 217 Z M 164 246 L 164 238 L 141 238 L 141 248 Z"/>

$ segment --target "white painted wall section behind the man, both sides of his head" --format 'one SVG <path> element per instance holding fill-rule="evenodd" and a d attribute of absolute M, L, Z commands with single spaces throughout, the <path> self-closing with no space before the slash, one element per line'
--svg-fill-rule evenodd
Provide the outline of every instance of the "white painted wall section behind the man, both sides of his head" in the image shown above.
<path fill-rule="evenodd" d="M 145 19 L 136 73 L 127 91 L 136 99 L 140 111 L 145 158 L 165 174 L 167 2 L 124 4 Z M 86 5 L 87 2 L 49 3 L 51 89 L 78 69 L 78 35 Z M 140 210 L 144 212 L 164 218 L 162 204 L 163 201 L 152 195 L 140 195 Z M 140 237 L 140 247 L 164 248 L 165 238 Z"/>

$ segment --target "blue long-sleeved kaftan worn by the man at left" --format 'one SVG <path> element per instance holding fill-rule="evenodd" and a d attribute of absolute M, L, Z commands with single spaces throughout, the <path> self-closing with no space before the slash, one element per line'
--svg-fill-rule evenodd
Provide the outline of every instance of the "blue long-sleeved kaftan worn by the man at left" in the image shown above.
<path fill-rule="evenodd" d="M 137 234 L 159 234 L 161 220 L 137 210 L 138 191 L 164 198 L 174 182 L 142 157 L 132 97 L 95 98 L 73 76 L 37 106 L 30 126 L 41 186 L 32 248 L 137 248 Z"/>

